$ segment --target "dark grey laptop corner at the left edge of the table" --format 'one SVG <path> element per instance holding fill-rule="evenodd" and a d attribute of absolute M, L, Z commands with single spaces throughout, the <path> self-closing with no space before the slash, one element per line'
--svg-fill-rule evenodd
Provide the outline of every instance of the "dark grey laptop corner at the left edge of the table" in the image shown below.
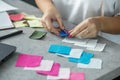
<path fill-rule="evenodd" d="M 16 47 L 5 43 L 0 43 L 0 62 L 16 51 Z"/>

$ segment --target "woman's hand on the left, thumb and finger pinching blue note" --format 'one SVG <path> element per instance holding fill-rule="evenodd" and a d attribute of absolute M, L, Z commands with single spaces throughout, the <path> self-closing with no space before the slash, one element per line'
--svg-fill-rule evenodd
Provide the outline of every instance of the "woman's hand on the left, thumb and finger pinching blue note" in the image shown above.
<path fill-rule="evenodd" d="M 59 31 L 64 29 L 62 18 L 56 8 L 47 9 L 42 16 L 43 26 L 50 32 L 59 35 Z M 53 26 L 53 22 L 58 23 L 58 27 Z"/>

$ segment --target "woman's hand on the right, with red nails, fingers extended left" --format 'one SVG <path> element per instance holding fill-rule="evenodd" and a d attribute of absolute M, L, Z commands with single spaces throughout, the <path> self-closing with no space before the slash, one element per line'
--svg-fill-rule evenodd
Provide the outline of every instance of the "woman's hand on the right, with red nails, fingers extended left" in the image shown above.
<path fill-rule="evenodd" d="M 94 38 L 100 30 L 101 24 L 95 18 L 88 18 L 70 31 L 70 36 L 78 38 Z"/>

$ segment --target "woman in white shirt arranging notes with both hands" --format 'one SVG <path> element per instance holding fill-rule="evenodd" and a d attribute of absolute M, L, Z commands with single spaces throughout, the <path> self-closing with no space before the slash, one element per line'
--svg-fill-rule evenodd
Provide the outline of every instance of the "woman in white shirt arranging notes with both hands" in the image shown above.
<path fill-rule="evenodd" d="M 43 12 L 44 26 L 56 35 L 65 28 L 62 19 L 77 24 L 69 31 L 69 37 L 93 38 L 98 32 L 120 34 L 120 0 L 35 1 Z M 58 28 L 53 26 L 54 21 L 58 22 Z"/>

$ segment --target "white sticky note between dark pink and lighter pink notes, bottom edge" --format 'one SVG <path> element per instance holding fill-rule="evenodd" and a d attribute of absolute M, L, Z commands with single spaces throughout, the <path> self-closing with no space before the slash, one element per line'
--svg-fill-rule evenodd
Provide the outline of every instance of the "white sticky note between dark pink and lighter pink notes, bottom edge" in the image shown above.
<path fill-rule="evenodd" d="M 69 79 L 70 68 L 60 68 L 58 76 L 47 76 L 47 80 Z"/>

